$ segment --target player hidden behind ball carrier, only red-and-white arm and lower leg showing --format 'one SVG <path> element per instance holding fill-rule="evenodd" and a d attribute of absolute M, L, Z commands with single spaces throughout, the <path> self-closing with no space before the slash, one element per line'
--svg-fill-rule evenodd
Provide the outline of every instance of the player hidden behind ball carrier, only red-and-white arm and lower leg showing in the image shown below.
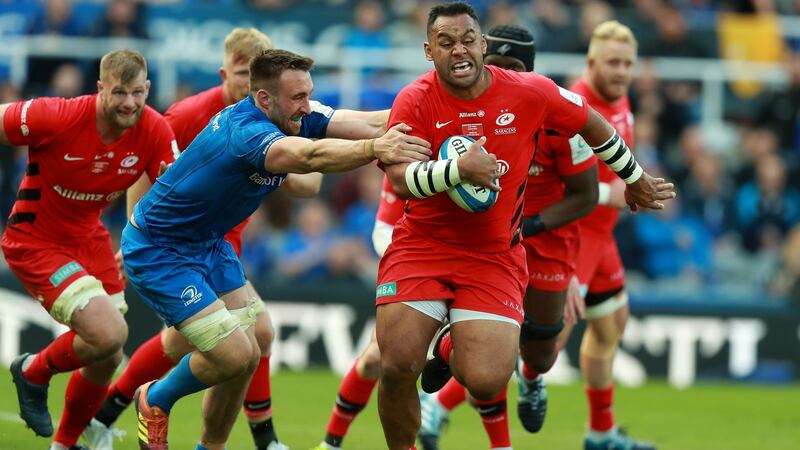
<path fill-rule="evenodd" d="M 372 229 L 372 245 L 379 256 L 383 256 L 386 247 L 392 241 L 394 224 L 403 217 L 405 201 L 397 198 L 389 179 L 383 178 L 381 200 L 375 216 L 375 227 Z M 375 384 L 380 375 L 381 354 L 378 342 L 373 334 L 367 348 L 356 358 L 350 370 L 342 378 L 336 403 L 328 419 L 325 439 L 313 450 L 340 450 L 347 430 L 358 413 L 367 406 Z"/>

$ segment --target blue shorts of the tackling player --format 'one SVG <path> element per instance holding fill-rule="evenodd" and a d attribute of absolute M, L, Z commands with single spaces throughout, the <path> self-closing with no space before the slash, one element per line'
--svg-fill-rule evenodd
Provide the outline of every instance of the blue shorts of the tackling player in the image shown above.
<path fill-rule="evenodd" d="M 224 239 L 205 248 L 161 245 L 129 222 L 120 247 L 128 282 L 167 326 L 183 322 L 220 294 L 245 284 L 242 264 Z"/>

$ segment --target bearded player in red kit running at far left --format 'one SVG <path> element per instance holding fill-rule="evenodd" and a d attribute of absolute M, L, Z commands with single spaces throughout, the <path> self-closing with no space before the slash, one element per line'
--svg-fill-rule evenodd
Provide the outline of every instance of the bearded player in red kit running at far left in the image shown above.
<path fill-rule="evenodd" d="M 128 209 L 177 152 L 172 130 L 145 105 L 144 58 L 114 51 L 100 61 L 98 93 L 0 105 L 0 142 L 28 146 L 28 166 L 2 248 L 25 288 L 70 331 L 11 364 L 21 416 L 53 435 L 47 388 L 73 372 L 51 449 L 80 448 L 122 358 L 128 328 L 124 282 L 103 209 L 127 193 Z"/>

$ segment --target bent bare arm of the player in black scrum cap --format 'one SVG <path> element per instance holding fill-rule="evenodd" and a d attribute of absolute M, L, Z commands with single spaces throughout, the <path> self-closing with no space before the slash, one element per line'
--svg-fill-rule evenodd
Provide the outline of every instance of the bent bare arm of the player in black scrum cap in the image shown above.
<path fill-rule="evenodd" d="M 562 176 L 561 181 L 566 187 L 564 197 L 539 214 L 525 217 L 522 222 L 523 237 L 574 222 L 592 212 L 597 205 L 597 165 L 574 175 Z"/>

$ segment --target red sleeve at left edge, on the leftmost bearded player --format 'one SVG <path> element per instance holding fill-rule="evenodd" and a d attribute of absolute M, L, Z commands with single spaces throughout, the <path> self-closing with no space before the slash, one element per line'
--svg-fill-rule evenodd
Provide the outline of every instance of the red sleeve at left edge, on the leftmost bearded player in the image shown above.
<path fill-rule="evenodd" d="M 3 127 L 12 145 L 37 147 L 68 126 L 67 100 L 43 97 L 11 104 L 3 116 Z"/>

